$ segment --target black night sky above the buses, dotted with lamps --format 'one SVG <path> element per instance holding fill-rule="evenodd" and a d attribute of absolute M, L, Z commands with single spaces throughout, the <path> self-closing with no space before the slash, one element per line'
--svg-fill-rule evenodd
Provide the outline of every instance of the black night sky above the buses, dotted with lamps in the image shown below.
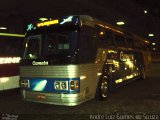
<path fill-rule="evenodd" d="M 26 24 L 38 17 L 75 14 L 91 15 L 112 25 L 124 21 L 122 28 L 151 41 L 160 40 L 159 0 L 3 0 L 0 26 L 8 28 L 5 32 L 25 33 Z M 149 33 L 155 36 L 148 37 Z"/>

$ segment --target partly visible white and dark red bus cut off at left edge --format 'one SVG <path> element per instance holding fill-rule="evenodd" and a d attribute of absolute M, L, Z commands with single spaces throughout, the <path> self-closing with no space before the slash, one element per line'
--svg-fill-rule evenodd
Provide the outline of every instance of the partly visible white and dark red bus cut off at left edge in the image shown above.
<path fill-rule="evenodd" d="M 0 33 L 0 91 L 19 88 L 19 62 L 24 35 Z"/>

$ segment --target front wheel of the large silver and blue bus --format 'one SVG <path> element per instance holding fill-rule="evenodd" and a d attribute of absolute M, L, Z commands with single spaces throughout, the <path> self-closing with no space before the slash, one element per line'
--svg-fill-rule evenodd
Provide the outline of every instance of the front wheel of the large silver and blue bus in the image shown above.
<path fill-rule="evenodd" d="M 97 91 L 96 91 L 96 99 L 97 100 L 105 100 L 108 97 L 108 78 L 106 76 L 102 76 L 98 83 Z"/>

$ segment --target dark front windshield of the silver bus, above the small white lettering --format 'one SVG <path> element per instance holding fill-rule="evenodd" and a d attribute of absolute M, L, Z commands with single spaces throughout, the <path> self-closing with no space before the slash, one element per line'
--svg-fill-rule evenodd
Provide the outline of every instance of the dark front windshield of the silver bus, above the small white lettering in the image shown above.
<path fill-rule="evenodd" d="M 52 63 L 73 63 L 77 53 L 77 31 L 49 32 L 28 36 L 25 59 L 47 59 Z"/>

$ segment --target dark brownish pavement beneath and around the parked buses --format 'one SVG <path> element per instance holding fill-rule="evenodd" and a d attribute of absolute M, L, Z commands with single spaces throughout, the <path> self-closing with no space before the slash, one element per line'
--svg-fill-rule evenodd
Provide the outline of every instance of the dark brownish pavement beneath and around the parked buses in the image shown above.
<path fill-rule="evenodd" d="M 66 107 L 24 102 L 18 90 L 0 94 L 2 116 L 0 120 L 7 117 L 15 118 L 14 120 L 110 120 L 115 117 L 125 120 L 142 118 L 158 120 L 160 119 L 158 113 L 160 113 L 159 63 L 152 64 L 145 81 L 136 80 L 116 89 L 110 93 L 106 101 L 91 100 L 79 106 Z"/>

